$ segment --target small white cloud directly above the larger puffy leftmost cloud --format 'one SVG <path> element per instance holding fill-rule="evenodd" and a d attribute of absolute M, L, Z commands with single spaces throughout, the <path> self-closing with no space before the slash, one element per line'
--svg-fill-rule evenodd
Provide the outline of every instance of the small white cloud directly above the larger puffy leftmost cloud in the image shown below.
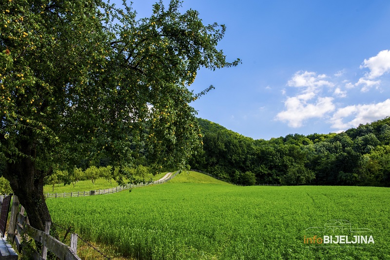
<path fill-rule="evenodd" d="M 287 85 L 290 87 L 307 87 L 311 89 L 322 86 L 333 87 L 333 83 L 324 79 L 326 77 L 327 75 L 325 74 L 317 75 L 315 72 L 298 71 L 292 76 L 292 79 L 288 81 Z"/>

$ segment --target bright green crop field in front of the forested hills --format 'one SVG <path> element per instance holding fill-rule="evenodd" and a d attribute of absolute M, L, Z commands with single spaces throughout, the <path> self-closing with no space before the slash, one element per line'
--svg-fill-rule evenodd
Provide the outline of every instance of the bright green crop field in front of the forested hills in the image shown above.
<path fill-rule="evenodd" d="M 233 186 L 183 172 L 163 185 L 47 204 L 55 223 L 134 259 L 390 259 L 389 188 Z M 329 220 L 370 229 L 374 243 L 304 243 L 307 228 Z"/>

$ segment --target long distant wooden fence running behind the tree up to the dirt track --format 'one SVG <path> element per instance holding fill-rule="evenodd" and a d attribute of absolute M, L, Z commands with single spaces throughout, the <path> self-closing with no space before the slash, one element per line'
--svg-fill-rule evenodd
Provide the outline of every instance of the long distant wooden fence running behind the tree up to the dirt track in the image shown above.
<path fill-rule="evenodd" d="M 172 180 L 179 171 L 176 171 L 174 175 L 171 175 L 169 178 L 161 180 L 161 181 L 154 181 L 151 183 L 138 183 L 138 184 L 127 184 L 125 186 L 117 186 L 113 188 L 108 189 L 95 189 L 90 191 L 75 191 L 75 192 L 63 192 L 63 193 L 46 193 L 46 198 L 71 198 L 71 197 L 85 197 L 85 196 L 92 196 L 92 195 L 105 195 L 105 194 L 112 194 L 116 193 L 125 189 L 131 189 L 135 187 L 143 187 L 143 186 L 149 186 L 153 184 L 163 184 L 170 180 Z"/>

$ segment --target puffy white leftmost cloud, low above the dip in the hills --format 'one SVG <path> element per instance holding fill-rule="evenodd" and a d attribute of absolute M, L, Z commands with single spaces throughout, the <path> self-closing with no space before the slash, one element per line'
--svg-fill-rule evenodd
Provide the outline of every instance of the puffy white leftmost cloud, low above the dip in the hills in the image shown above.
<path fill-rule="evenodd" d="M 298 128 L 303 125 L 303 122 L 309 118 L 323 117 L 326 113 L 334 110 L 331 97 L 318 97 L 316 102 L 308 103 L 310 94 L 302 94 L 289 97 L 284 105 L 285 111 L 281 111 L 276 115 L 277 120 L 288 122 L 288 125 L 293 128 Z M 312 96 L 313 97 L 313 96 Z"/>

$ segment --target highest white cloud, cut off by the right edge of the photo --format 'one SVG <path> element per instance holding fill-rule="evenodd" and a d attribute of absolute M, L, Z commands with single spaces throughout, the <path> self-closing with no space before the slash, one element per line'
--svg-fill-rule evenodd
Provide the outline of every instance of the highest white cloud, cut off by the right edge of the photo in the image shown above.
<path fill-rule="evenodd" d="M 360 69 L 368 68 L 370 73 L 366 74 L 366 78 L 375 79 L 390 71 L 390 51 L 384 50 L 379 52 L 376 56 L 365 59 Z"/>

